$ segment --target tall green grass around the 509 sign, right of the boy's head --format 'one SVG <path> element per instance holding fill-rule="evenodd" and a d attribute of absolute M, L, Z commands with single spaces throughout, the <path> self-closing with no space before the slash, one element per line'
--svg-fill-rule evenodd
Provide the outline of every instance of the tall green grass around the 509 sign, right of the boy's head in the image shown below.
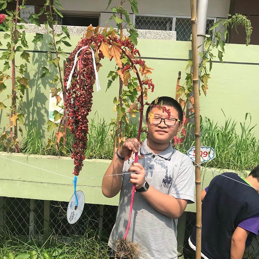
<path fill-rule="evenodd" d="M 201 146 L 213 147 L 216 152 L 216 157 L 206 166 L 243 171 L 252 170 L 259 164 L 259 141 L 252 133 L 256 125 L 251 125 L 251 119 L 249 113 L 246 113 L 243 123 L 225 116 L 225 123 L 219 126 L 209 118 L 201 118 Z M 187 131 L 191 131 L 192 127 L 192 124 L 188 124 Z M 186 153 L 194 145 L 194 138 L 188 135 L 183 145 L 177 145 L 176 148 Z"/>

